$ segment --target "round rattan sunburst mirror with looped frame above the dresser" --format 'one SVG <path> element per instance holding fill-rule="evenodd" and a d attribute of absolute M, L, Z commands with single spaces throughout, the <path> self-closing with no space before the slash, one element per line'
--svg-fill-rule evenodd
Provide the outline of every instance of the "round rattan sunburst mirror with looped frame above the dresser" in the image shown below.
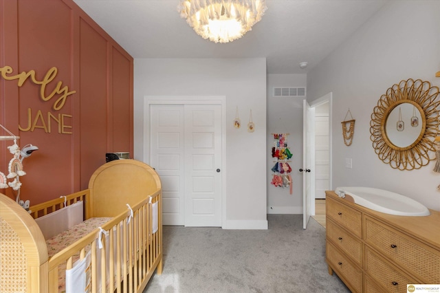
<path fill-rule="evenodd" d="M 382 162 L 393 169 L 412 170 L 435 159 L 432 141 L 439 135 L 438 98 L 439 87 L 420 79 L 401 80 L 386 90 L 370 122 L 370 139 Z"/>

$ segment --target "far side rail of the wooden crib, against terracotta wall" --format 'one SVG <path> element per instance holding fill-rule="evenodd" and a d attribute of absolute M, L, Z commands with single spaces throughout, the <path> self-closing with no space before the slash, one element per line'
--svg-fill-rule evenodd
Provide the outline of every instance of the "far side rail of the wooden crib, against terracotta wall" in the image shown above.
<path fill-rule="evenodd" d="M 30 215 L 37 219 L 43 217 L 44 215 L 54 213 L 54 211 L 63 208 L 64 206 L 70 206 L 71 204 L 76 204 L 76 202 L 83 201 L 85 206 L 89 204 L 90 199 L 90 189 L 85 189 L 83 191 L 78 191 L 77 193 L 72 193 L 67 196 L 52 199 L 49 202 L 43 202 L 42 204 L 36 204 L 29 208 Z M 85 208 L 87 211 L 88 208 Z M 87 212 L 86 212 L 87 213 Z M 88 219 L 89 215 L 85 215 L 85 219 Z"/>

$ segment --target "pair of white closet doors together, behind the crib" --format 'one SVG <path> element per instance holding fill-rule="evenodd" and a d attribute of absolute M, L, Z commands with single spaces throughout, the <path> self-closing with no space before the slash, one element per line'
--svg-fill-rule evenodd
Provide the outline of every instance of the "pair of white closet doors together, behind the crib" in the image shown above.
<path fill-rule="evenodd" d="M 148 100 L 145 158 L 162 181 L 164 225 L 221 227 L 223 105 Z"/>

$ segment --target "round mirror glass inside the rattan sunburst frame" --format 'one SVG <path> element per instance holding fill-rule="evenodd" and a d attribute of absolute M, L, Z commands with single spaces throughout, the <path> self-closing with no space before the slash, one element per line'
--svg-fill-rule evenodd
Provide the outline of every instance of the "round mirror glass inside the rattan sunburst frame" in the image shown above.
<path fill-rule="evenodd" d="M 397 105 L 386 118 L 385 131 L 388 140 L 395 146 L 405 148 L 414 143 L 423 129 L 421 113 L 409 102 Z"/>

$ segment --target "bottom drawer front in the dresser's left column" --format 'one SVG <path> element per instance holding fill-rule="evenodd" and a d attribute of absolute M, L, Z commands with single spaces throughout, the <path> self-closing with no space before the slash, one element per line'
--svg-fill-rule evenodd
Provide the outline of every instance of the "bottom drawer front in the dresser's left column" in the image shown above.
<path fill-rule="evenodd" d="M 326 246 L 327 264 L 336 271 L 341 279 L 347 281 L 347 285 L 354 292 L 362 292 L 362 270 L 352 265 L 347 257 L 342 255 L 329 241 Z"/>

